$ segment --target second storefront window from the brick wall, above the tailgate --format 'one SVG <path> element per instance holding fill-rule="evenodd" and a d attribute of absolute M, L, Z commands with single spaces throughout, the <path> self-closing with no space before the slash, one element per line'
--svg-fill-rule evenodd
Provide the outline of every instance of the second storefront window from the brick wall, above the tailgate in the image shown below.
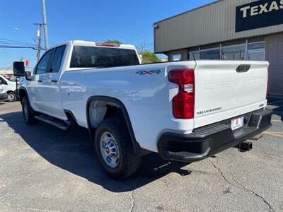
<path fill-rule="evenodd" d="M 234 45 L 221 48 L 221 59 L 241 60 L 246 59 L 246 45 Z"/>

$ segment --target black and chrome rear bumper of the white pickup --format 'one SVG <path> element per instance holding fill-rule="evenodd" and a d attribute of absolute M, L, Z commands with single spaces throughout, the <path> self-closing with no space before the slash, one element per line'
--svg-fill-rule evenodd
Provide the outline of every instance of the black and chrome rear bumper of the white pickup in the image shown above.
<path fill-rule="evenodd" d="M 272 110 L 262 109 L 242 116 L 245 117 L 244 126 L 236 131 L 231 130 L 231 119 L 227 119 L 195 129 L 191 134 L 164 133 L 158 140 L 158 153 L 168 160 L 202 160 L 237 146 L 272 125 Z"/>

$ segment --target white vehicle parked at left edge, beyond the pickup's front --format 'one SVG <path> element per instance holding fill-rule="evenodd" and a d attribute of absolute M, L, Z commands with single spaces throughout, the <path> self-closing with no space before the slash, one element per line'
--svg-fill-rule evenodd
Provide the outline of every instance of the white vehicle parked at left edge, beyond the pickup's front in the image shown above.
<path fill-rule="evenodd" d="M 6 78 L 0 74 L 0 85 L 7 93 L 9 102 L 14 102 L 18 99 L 16 79 Z"/>

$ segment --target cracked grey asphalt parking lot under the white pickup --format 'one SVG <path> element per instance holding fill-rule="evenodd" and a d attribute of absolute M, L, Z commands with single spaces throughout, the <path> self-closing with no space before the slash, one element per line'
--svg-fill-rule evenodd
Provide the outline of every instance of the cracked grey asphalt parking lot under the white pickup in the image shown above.
<path fill-rule="evenodd" d="M 105 176 L 88 131 L 23 122 L 20 102 L 0 103 L 0 211 L 283 211 L 283 100 L 272 128 L 197 163 L 143 158 L 123 181 Z"/>

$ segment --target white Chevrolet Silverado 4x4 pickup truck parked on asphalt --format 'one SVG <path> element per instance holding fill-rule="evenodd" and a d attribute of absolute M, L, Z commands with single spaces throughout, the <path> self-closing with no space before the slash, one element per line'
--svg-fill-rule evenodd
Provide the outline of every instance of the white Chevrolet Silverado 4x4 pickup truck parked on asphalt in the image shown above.
<path fill-rule="evenodd" d="M 33 73 L 21 62 L 13 67 L 15 76 L 25 75 L 19 86 L 25 122 L 87 128 L 105 172 L 122 178 L 137 170 L 146 153 L 202 160 L 269 128 L 268 65 L 141 65 L 132 45 L 69 41 L 45 52 Z"/>

